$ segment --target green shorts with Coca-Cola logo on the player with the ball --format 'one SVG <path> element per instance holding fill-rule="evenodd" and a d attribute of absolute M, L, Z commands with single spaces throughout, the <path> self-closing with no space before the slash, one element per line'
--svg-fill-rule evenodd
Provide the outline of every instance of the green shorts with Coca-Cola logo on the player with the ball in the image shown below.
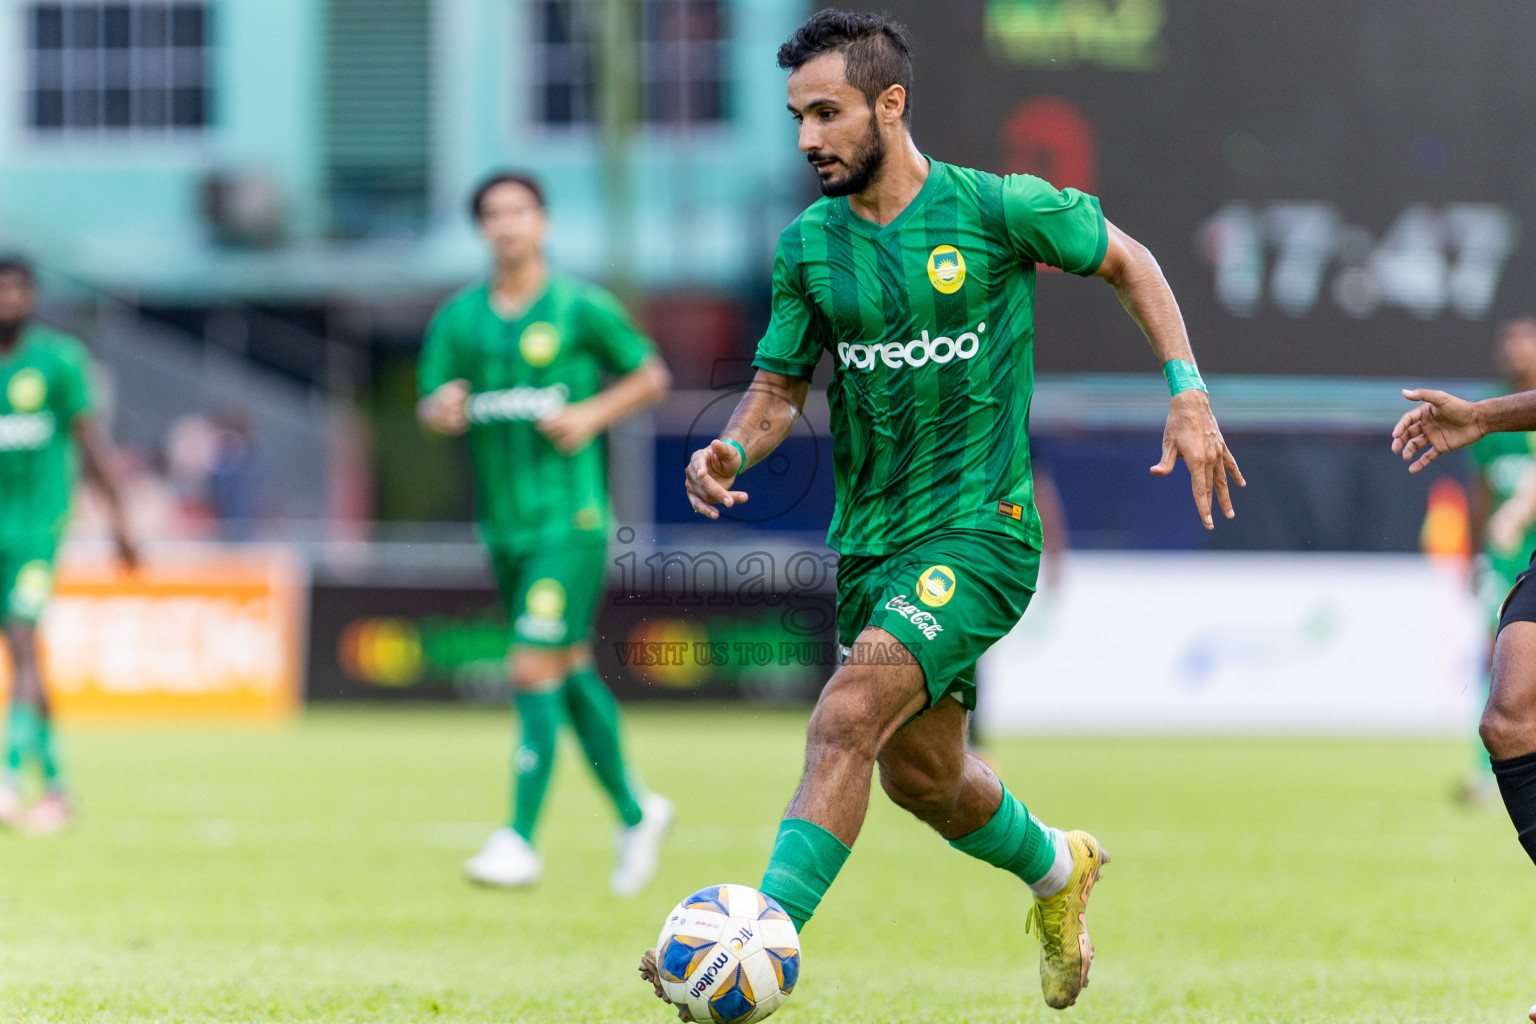
<path fill-rule="evenodd" d="M 879 626 L 928 679 L 929 706 L 954 694 L 975 708 L 975 662 L 1008 636 L 1040 579 L 1040 551 L 1001 533 L 938 530 L 894 554 L 837 560 L 837 639 Z"/>

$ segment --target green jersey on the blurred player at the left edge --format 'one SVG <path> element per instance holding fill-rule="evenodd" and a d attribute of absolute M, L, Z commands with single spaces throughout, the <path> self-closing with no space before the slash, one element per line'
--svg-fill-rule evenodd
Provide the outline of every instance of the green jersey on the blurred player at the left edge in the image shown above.
<path fill-rule="evenodd" d="M 91 356 L 69 335 L 28 325 L 0 356 L 0 543 L 63 536 L 77 474 L 71 425 L 91 401 Z"/>

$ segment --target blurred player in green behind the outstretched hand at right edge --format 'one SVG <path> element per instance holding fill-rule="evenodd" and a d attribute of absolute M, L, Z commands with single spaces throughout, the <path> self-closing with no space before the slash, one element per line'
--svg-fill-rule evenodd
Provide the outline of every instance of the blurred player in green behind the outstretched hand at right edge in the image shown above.
<path fill-rule="evenodd" d="M 1536 319 L 1505 324 L 1499 330 L 1495 359 L 1508 388 L 1505 393 L 1536 390 Z M 1471 461 L 1476 467 L 1473 537 L 1481 540 L 1484 570 L 1478 594 L 1496 633 L 1504 599 L 1536 550 L 1536 433 L 1490 433 L 1471 445 Z M 1458 785 L 1456 798 L 1482 803 L 1496 789 L 1493 768 L 1481 742 L 1473 757 L 1473 771 Z"/>

